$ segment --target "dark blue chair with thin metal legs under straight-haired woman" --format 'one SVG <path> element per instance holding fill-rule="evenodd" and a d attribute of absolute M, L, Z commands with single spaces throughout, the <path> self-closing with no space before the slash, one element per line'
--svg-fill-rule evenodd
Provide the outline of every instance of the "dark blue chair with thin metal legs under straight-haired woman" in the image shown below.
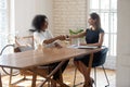
<path fill-rule="evenodd" d="M 107 80 L 107 85 L 105 87 L 108 87 L 109 86 L 109 82 L 108 82 L 108 78 L 107 78 L 107 75 L 106 75 L 106 72 L 105 72 L 105 69 L 104 69 L 104 63 L 106 61 L 106 54 L 107 54 L 107 51 L 108 51 L 108 48 L 104 47 L 102 50 L 101 50 L 101 54 L 96 58 L 94 57 L 95 59 L 100 59 L 98 60 L 96 62 L 93 62 L 92 63 L 92 67 L 94 67 L 94 84 L 95 84 L 95 87 L 96 87 L 96 66 L 102 66 L 103 71 L 104 71 L 104 74 L 105 74 L 105 77 L 106 77 L 106 80 Z M 77 85 L 75 85 L 75 82 L 76 82 L 76 73 L 77 73 L 77 69 L 75 70 L 75 77 L 74 77 L 74 87 L 76 87 Z M 80 84 L 83 84 L 83 83 L 80 83 Z M 78 84 L 78 85 L 80 85 Z"/>

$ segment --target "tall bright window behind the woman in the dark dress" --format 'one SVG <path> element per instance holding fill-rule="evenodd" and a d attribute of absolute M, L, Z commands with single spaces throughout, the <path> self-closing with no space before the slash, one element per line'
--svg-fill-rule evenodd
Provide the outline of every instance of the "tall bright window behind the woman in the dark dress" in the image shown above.
<path fill-rule="evenodd" d="M 116 57 L 117 0 L 89 0 L 89 12 L 100 14 L 101 24 L 105 30 L 104 46 L 109 49 L 108 55 Z"/>

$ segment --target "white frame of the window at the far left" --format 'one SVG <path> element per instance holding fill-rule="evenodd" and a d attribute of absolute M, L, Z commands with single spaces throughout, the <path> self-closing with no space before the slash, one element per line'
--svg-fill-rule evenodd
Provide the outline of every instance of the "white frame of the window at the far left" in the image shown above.
<path fill-rule="evenodd" d="M 14 44 L 14 32 L 15 32 L 15 28 L 14 28 L 14 0 L 4 0 L 6 1 L 5 3 L 5 18 L 6 18 L 6 22 L 5 22 L 5 27 L 1 28 L 1 35 L 2 37 L 4 37 L 4 40 L 5 41 L 2 41 L 2 37 L 0 37 L 0 48 L 2 49 L 5 45 L 9 45 L 9 44 Z M 2 10 L 2 9 L 1 9 Z M 4 30 L 2 30 L 4 29 Z M 1 50 L 0 49 L 0 50 Z"/>

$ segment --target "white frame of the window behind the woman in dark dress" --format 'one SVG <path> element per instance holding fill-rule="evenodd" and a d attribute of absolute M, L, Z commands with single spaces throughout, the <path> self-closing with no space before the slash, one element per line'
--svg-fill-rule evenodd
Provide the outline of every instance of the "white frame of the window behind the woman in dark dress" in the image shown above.
<path fill-rule="evenodd" d="M 105 32 L 105 35 L 108 36 L 108 45 L 107 45 L 107 47 L 109 48 L 108 57 L 116 58 L 117 57 L 117 26 L 116 26 L 115 33 L 112 32 L 114 28 L 112 29 L 113 25 L 110 25 L 110 21 L 112 21 L 110 20 L 112 18 L 110 13 L 115 13 L 116 14 L 116 20 L 115 21 L 116 21 L 116 25 L 117 25 L 117 8 L 116 9 L 112 9 L 112 4 L 110 3 L 112 3 L 112 0 L 109 0 L 109 9 L 107 9 L 107 10 L 101 9 L 101 0 L 99 0 L 99 9 L 91 9 L 91 0 L 88 0 L 88 14 L 91 13 L 91 12 L 96 12 L 101 16 L 101 13 L 103 13 L 103 12 L 104 13 L 105 12 L 108 13 L 108 26 L 109 26 L 109 29 L 108 29 L 108 32 Z M 101 20 L 102 20 L 102 17 L 101 17 Z M 102 23 L 102 25 L 103 25 L 103 23 Z M 104 27 L 103 27 L 103 29 L 104 29 Z M 114 44 L 114 41 L 115 41 L 114 38 L 116 38 L 116 44 Z M 106 46 L 105 42 L 103 45 Z"/>

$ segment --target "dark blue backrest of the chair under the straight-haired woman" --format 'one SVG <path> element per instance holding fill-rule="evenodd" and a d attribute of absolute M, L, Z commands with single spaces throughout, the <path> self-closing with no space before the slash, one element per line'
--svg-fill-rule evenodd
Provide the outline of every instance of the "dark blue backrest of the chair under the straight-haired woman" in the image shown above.
<path fill-rule="evenodd" d="M 108 51 L 108 48 L 105 47 L 94 55 L 92 67 L 100 66 L 105 63 L 107 51 Z"/>

